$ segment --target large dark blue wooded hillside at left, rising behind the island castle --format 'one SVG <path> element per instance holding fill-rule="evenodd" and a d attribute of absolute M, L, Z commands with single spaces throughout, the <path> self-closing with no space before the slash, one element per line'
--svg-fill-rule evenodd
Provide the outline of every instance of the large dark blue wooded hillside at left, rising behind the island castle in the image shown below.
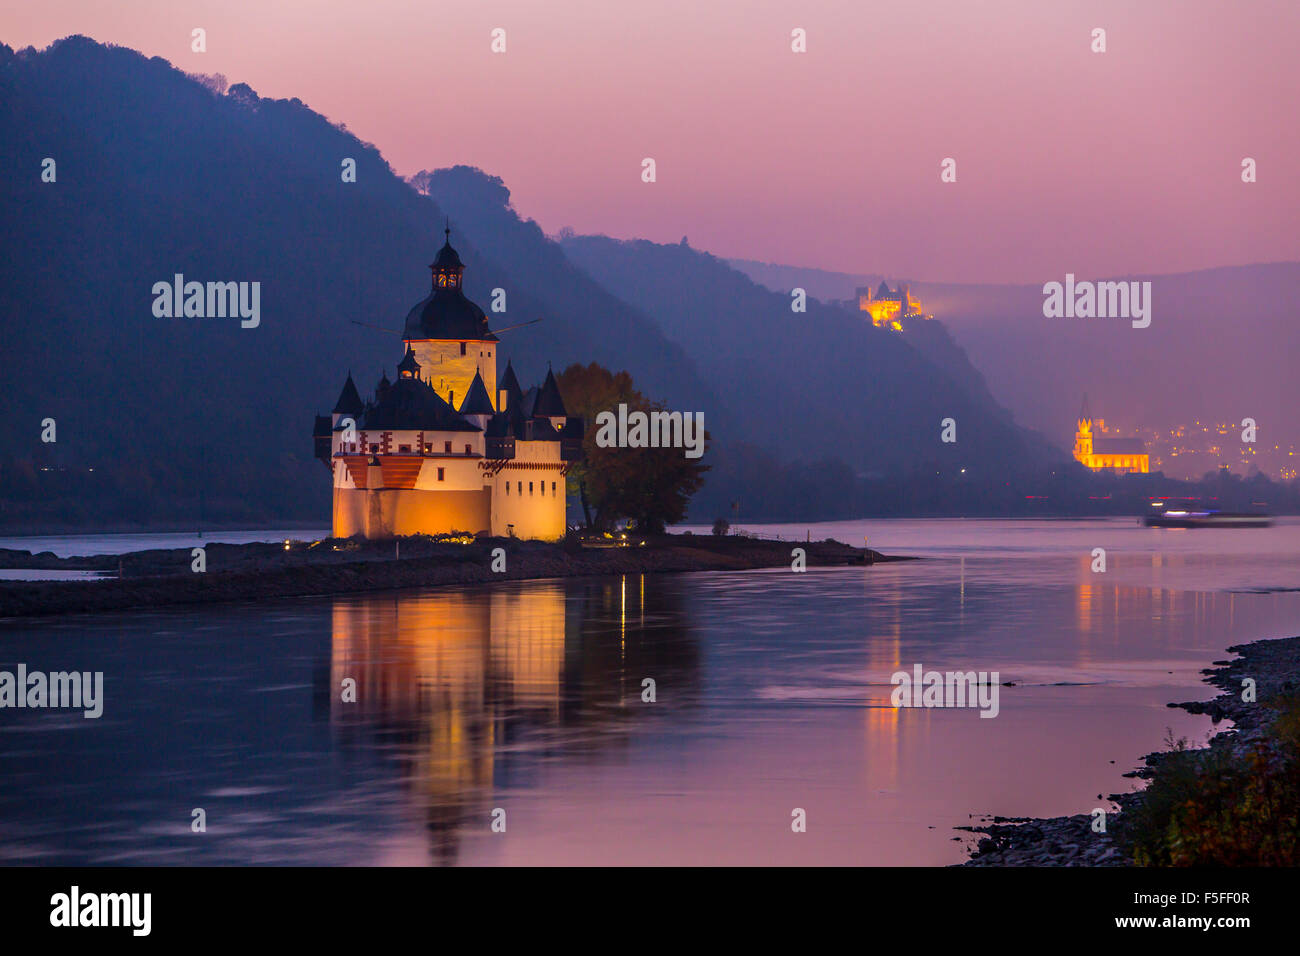
<path fill-rule="evenodd" d="M 348 368 L 363 390 L 393 375 L 443 209 L 296 99 L 82 36 L 0 47 L 0 527 L 326 523 L 313 415 Z M 476 181 L 447 199 L 467 293 L 486 308 L 507 289 L 497 326 L 543 317 L 502 337 L 525 382 L 595 360 L 724 418 L 654 323 L 572 267 L 547 269 L 563 256 L 540 230 L 502 195 L 454 195 L 462 182 Z M 259 281 L 260 325 L 155 317 L 153 284 L 176 273 Z"/>

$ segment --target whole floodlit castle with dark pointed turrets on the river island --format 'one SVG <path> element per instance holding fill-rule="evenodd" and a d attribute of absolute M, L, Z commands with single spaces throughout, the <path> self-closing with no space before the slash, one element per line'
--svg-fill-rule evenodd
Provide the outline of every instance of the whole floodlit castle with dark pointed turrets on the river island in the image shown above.
<path fill-rule="evenodd" d="M 316 418 L 316 457 L 334 483 L 334 537 L 438 535 L 558 540 L 566 473 L 584 423 L 564 410 L 555 375 L 524 392 L 498 338 L 462 289 L 447 242 L 429 268 L 433 291 L 406 319 L 396 381 L 361 401 L 351 372 L 332 415 Z"/>

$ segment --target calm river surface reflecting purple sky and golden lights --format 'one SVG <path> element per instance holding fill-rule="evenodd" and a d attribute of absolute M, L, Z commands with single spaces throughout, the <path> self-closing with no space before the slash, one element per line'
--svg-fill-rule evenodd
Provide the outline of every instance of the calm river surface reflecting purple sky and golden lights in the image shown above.
<path fill-rule="evenodd" d="M 0 669 L 105 682 L 98 721 L 0 710 L 0 862 L 958 862 L 971 814 L 1130 790 L 1209 732 L 1165 706 L 1202 667 L 1300 633 L 1290 520 L 753 529 L 810 527 L 927 559 L 0 622 Z M 896 710 L 914 663 L 1017 685 L 996 719 Z"/>

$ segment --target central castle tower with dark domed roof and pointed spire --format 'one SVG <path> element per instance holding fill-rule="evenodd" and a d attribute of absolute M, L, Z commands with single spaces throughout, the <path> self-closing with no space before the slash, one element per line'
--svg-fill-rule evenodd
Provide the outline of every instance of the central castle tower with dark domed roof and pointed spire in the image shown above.
<path fill-rule="evenodd" d="M 474 377 L 497 394 L 497 336 L 488 316 L 464 293 L 465 265 L 447 241 L 429 271 L 433 289 L 407 313 L 402 341 L 419 364 L 419 376 L 452 407 L 459 407 Z"/>

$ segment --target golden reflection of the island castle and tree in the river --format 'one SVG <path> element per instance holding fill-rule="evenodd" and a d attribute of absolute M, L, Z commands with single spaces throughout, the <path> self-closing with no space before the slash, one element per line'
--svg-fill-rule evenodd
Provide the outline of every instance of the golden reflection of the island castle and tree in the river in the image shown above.
<path fill-rule="evenodd" d="M 647 596 L 644 576 L 387 592 L 333 606 L 329 715 L 343 752 L 395 761 L 447 864 L 556 740 L 620 747 L 633 723 L 693 706 L 698 667 L 680 593 Z"/>

